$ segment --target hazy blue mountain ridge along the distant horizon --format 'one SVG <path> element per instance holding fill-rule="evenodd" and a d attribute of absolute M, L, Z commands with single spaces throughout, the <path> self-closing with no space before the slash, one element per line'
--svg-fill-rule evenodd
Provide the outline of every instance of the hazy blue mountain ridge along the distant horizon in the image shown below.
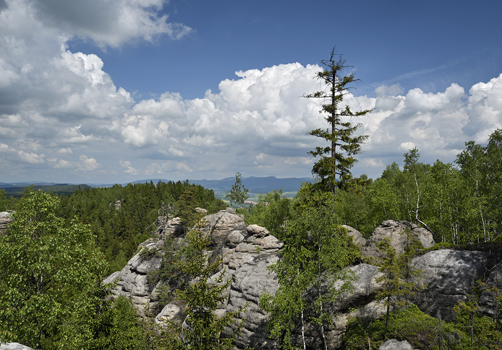
<path fill-rule="evenodd" d="M 159 181 L 169 182 L 173 180 L 167 179 L 145 179 L 145 180 L 137 180 L 131 182 L 131 184 L 139 184 L 139 183 L 149 183 L 153 182 L 157 184 Z M 174 180 L 177 182 L 178 180 Z M 186 180 L 180 180 L 186 181 Z M 271 191 L 279 191 L 283 190 L 283 192 L 297 192 L 302 183 L 304 182 L 312 182 L 312 178 L 276 178 L 275 176 L 269 177 L 249 177 L 242 178 L 242 185 L 249 190 L 250 193 L 267 193 Z M 230 191 L 232 185 L 235 183 L 235 177 L 225 178 L 221 180 L 188 180 L 189 183 L 195 185 L 201 185 L 206 189 L 213 190 L 215 192 L 226 192 Z M 86 187 L 111 187 L 114 184 L 58 184 L 58 183 L 50 183 L 50 182 L 19 182 L 19 183 L 4 183 L 0 182 L 0 189 L 6 191 L 8 195 L 19 195 L 24 189 L 28 186 L 34 185 L 34 189 L 42 189 L 43 191 L 52 191 L 58 194 L 69 194 L 75 192 L 80 186 L 81 189 L 85 189 Z M 127 185 L 121 184 L 122 186 Z"/>

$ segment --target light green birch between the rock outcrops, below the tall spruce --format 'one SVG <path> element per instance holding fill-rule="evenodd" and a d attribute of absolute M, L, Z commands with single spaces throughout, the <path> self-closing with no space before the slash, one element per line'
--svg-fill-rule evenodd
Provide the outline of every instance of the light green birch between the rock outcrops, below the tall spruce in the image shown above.
<path fill-rule="evenodd" d="M 286 349 L 300 345 L 292 336 L 298 324 L 302 329 L 299 341 L 305 343 L 303 329 L 307 323 L 316 325 L 326 346 L 324 328 L 332 322 L 332 316 L 325 305 L 351 288 L 353 276 L 344 268 L 358 255 L 352 239 L 337 224 L 332 195 L 312 189 L 306 185 L 300 190 L 298 217 L 286 227 L 282 256 L 270 267 L 277 274 L 279 290 L 260 299 L 260 306 L 271 312 L 271 335 Z M 342 283 L 335 286 L 336 281 Z"/>

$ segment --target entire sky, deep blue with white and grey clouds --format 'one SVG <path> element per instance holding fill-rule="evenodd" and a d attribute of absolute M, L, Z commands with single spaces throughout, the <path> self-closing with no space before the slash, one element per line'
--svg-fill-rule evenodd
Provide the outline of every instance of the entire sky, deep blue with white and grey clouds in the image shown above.
<path fill-rule="evenodd" d="M 0 0 L 0 182 L 311 177 L 333 47 L 354 176 L 502 128 L 502 0 Z"/>

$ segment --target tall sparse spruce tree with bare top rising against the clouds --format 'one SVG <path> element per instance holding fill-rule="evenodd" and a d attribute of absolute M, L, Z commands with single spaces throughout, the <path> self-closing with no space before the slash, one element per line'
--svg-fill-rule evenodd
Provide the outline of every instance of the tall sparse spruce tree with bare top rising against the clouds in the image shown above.
<path fill-rule="evenodd" d="M 327 146 L 317 146 L 309 154 L 320 157 L 312 168 L 312 174 L 321 180 L 321 186 L 334 194 L 336 188 L 347 189 L 354 183 L 350 168 L 357 162 L 354 155 L 361 152 L 361 146 L 367 135 L 355 135 L 360 123 L 352 124 L 352 117 L 364 116 L 371 110 L 352 112 L 348 105 L 342 108 L 339 105 L 351 89 L 350 84 L 359 79 L 349 73 L 342 77 L 343 71 L 352 68 L 346 65 L 340 54 L 331 50 L 331 56 L 322 60 L 326 68 L 317 73 L 317 78 L 326 85 L 324 91 L 304 95 L 306 98 L 320 99 L 321 111 L 328 122 L 327 129 L 315 129 L 310 135 L 320 137 L 328 142 Z"/>

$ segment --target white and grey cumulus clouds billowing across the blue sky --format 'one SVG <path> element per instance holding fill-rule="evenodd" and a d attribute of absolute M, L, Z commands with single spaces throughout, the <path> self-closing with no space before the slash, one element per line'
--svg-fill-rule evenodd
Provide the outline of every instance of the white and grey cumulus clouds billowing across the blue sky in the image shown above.
<path fill-rule="evenodd" d="M 64 3 L 64 4 L 63 4 Z M 235 72 L 218 91 L 185 100 L 176 92 L 136 101 L 115 86 L 95 54 L 71 52 L 69 40 L 105 49 L 192 29 L 170 23 L 162 0 L 8 0 L 0 2 L 0 181 L 127 182 L 141 178 L 220 179 L 309 176 L 307 154 L 326 127 L 318 101 L 321 68 L 299 63 Z M 453 161 L 464 142 L 485 142 L 502 127 L 502 74 L 468 92 L 405 92 L 379 86 L 376 98 L 347 95 L 371 109 L 369 135 L 354 169 L 378 177 L 414 146 L 422 160 Z"/>

